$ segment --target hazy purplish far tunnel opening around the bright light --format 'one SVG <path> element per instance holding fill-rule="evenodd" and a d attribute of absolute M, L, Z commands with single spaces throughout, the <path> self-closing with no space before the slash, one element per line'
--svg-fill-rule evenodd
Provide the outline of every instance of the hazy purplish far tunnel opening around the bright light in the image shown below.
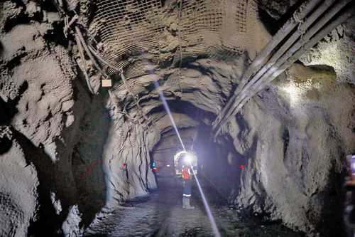
<path fill-rule="evenodd" d="M 198 157 L 194 169 L 204 188 L 211 194 L 207 198 L 227 205 L 233 202 L 239 192 L 240 176 L 246 167 L 246 159 L 236 152 L 230 137 L 213 142 L 210 132 L 211 127 L 203 124 L 180 129 L 185 146 Z M 180 151 L 173 130 L 165 132 L 155 145 L 151 157 L 156 164 L 157 169 L 153 172 L 159 189 L 169 185 L 180 188 L 181 169 L 176 157 Z"/>

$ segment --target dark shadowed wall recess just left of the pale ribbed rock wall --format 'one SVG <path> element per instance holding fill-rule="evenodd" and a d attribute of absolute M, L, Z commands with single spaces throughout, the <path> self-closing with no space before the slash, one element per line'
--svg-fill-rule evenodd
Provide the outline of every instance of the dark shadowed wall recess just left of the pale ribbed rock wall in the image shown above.
<path fill-rule="evenodd" d="M 109 113 L 104 106 L 104 98 L 105 95 L 92 98 L 80 122 L 80 139 L 72 153 L 72 173 L 84 228 L 92 223 L 106 201 L 102 154 L 109 132 Z"/>

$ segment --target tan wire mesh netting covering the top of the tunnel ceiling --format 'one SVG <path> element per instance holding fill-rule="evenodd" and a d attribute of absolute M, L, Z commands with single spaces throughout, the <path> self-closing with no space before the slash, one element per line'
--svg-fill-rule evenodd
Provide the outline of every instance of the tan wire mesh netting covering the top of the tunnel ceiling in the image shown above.
<path fill-rule="evenodd" d="M 97 51 L 105 60 L 124 69 L 126 78 L 176 65 L 181 56 L 216 60 L 239 56 L 257 17 L 254 0 L 184 0 L 181 5 L 180 1 L 165 5 L 169 4 L 163 0 L 96 1 L 90 38 L 98 42 Z"/>

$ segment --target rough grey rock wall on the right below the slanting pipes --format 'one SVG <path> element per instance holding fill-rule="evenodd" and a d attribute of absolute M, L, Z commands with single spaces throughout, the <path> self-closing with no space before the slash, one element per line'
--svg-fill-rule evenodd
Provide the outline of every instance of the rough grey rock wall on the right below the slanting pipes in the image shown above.
<path fill-rule="evenodd" d="M 236 204 L 307 233 L 327 226 L 337 234 L 344 154 L 355 149 L 354 96 L 332 68 L 294 65 L 249 102 L 239 130 L 249 142 L 234 140 L 249 156 Z"/>

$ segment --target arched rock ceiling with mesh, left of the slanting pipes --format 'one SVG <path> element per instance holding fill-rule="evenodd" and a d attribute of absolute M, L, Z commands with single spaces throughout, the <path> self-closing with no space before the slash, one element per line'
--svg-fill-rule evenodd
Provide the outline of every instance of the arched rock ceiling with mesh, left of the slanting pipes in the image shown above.
<path fill-rule="evenodd" d="M 256 1 L 89 2 L 80 22 L 92 53 L 114 78 L 110 96 L 119 110 L 145 124 L 160 117 L 153 112 L 161 105 L 154 82 L 168 101 L 204 110 L 208 118 L 200 118 L 210 124 L 209 113 L 222 107 L 270 39 Z"/>

